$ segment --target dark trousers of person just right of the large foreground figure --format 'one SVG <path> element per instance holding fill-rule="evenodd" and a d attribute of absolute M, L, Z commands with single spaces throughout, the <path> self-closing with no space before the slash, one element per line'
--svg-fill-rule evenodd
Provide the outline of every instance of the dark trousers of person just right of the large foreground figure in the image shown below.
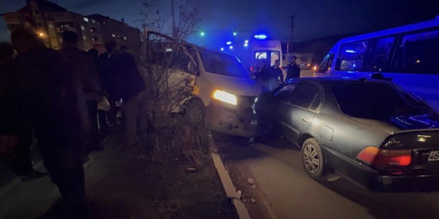
<path fill-rule="evenodd" d="M 97 100 L 89 100 L 86 102 L 87 110 L 88 110 L 88 118 L 90 119 L 90 138 L 88 150 L 100 150 L 99 146 L 99 127 L 98 127 L 98 101 Z M 88 151 L 88 152 L 90 152 Z"/>

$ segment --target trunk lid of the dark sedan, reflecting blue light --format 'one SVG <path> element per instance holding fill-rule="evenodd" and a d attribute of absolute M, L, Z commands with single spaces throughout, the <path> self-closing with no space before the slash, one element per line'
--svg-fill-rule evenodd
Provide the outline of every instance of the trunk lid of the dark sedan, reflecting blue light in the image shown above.
<path fill-rule="evenodd" d="M 349 118 L 388 133 L 410 129 L 439 128 L 439 113 L 402 115 L 392 117 L 388 120 L 376 120 L 351 116 L 349 116 Z"/>

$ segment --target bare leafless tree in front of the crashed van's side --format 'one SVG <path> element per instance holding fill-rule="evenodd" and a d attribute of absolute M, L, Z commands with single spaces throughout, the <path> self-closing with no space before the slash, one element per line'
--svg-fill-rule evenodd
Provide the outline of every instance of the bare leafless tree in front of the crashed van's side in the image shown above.
<path fill-rule="evenodd" d="M 145 2 L 145 12 L 138 20 L 144 28 L 141 70 L 149 88 L 143 103 L 155 130 L 175 127 L 184 120 L 181 119 L 184 105 L 194 94 L 198 71 L 195 51 L 185 39 L 203 18 L 199 4 L 192 0 L 175 0 L 177 14 L 173 30 L 167 19 L 169 15 L 163 12 L 163 2 Z M 171 37 L 173 31 L 177 34 Z"/>

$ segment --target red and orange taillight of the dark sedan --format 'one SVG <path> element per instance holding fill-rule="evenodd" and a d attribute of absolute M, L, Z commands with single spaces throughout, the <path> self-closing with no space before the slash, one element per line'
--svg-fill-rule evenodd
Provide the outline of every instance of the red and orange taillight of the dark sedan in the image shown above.
<path fill-rule="evenodd" d="M 357 159 L 376 167 L 409 166 L 412 162 L 412 150 L 383 150 L 369 146 L 357 155 Z"/>

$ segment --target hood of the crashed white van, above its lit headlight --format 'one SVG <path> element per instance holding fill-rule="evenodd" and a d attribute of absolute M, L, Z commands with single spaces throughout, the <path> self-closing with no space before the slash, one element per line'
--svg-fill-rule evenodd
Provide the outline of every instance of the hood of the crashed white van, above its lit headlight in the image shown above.
<path fill-rule="evenodd" d="M 262 92 L 262 86 L 256 81 L 248 78 L 236 78 L 225 75 L 206 73 L 206 78 L 219 89 L 238 96 L 258 96 Z"/>

